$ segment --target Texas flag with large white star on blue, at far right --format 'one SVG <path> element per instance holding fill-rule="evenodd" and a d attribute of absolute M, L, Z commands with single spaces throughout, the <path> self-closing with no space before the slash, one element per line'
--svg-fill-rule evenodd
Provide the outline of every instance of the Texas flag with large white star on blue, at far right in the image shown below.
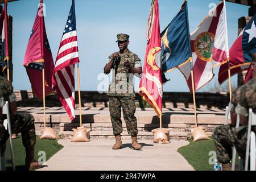
<path fill-rule="evenodd" d="M 252 53 L 256 52 L 256 14 L 248 22 L 247 26 L 240 33 L 229 50 L 230 53 L 230 74 L 235 75 L 250 67 L 253 60 Z M 250 70 L 246 76 L 246 81 L 250 80 Z M 228 64 L 223 64 L 218 72 L 218 82 L 222 84 L 228 79 Z"/>

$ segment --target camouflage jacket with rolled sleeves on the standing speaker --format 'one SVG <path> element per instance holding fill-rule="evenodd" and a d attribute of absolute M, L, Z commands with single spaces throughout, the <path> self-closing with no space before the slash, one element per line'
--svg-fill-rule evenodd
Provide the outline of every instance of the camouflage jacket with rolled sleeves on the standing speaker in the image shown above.
<path fill-rule="evenodd" d="M 113 55 L 109 56 L 109 60 L 112 60 Z M 133 86 L 133 73 L 129 71 L 129 68 L 125 67 L 125 61 L 129 61 L 131 67 L 142 67 L 141 59 L 135 53 L 129 51 L 123 54 L 119 54 L 118 59 L 112 68 L 112 82 L 109 85 L 108 96 L 113 97 L 135 97 Z"/>

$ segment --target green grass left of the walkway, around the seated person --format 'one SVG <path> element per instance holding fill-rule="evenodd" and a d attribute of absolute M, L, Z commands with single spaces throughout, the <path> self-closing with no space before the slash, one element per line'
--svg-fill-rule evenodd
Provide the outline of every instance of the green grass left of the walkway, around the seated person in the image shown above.
<path fill-rule="evenodd" d="M 13 140 L 13 147 L 14 147 L 14 160 L 15 160 L 15 166 L 16 170 L 24 170 L 24 164 L 25 164 L 25 157 L 26 152 L 25 148 L 22 144 L 22 137 L 18 135 L 17 139 Z M 35 159 L 38 160 L 41 155 L 39 154 L 39 151 L 46 152 L 46 160 L 49 160 L 56 152 L 61 150 L 63 146 L 57 143 L 57 140 L 40 140 L 39 137 L 36 138 L 36 144 L 35 144 Z M 11 169 L 11 155 L 10 155 L 10 142 L 7 140 L 6 145 L 6 159 L 7 159 L 7 170 Z"/>

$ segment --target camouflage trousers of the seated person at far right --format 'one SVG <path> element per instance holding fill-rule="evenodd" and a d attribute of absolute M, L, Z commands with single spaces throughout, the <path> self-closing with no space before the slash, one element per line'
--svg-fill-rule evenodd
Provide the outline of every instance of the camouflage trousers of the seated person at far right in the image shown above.
<path fill-rule="evenodd" d="M 237 150 L 243 164 L 245 164 L 245 152 L 247 142 L 247 127 L 232 127 L 231 125 L 222 125 L 216 127 L 213 131 L 214 145 L 217 152 L 217 159 L 220 163 L 230 163 L 232 159 L 232 147 Z"/>

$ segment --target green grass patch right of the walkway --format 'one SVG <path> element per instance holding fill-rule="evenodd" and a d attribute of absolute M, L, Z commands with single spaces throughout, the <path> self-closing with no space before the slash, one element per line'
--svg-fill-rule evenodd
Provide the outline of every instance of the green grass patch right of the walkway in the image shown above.
<path fill-rule="evenodd" d="M 209 152 L 215 151 L 214 141 L 200 140 L 193 142 L 188 140 L 187 146 L 180 147 L 178 152 L 188 161 L 196 171 L 212 171 L 213 165 L 209 164 Z"/>

